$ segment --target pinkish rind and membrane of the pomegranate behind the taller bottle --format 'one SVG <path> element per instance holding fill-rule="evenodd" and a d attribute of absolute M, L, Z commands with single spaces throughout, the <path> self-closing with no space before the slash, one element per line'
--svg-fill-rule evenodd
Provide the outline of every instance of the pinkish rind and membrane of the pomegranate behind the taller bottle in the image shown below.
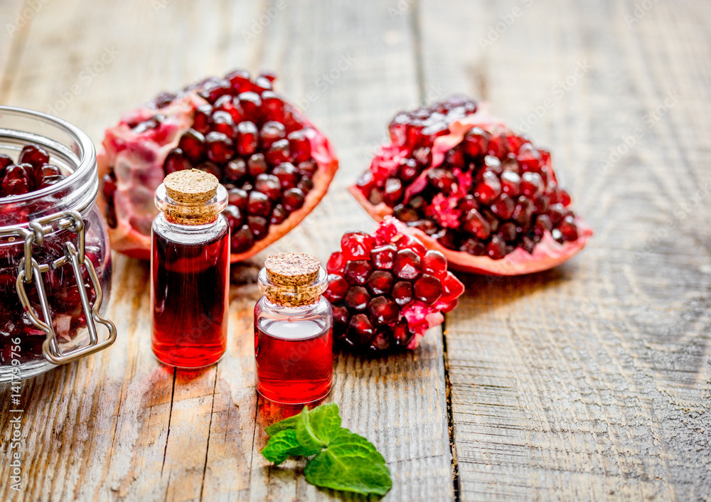
<path fill-rule="evenodd" d="M 127 112 L 117 126 L 106 129 L 97 154 L 97 164 L 100 178 L 112 167 L 117 177 L 117 191 L 114 195 L 117 227 L 108 228 L 114 250 L 140 260 L 150 259 L 150 225 L 158 214 L 154 193 L 163 182 L 164 161 L 169 152 L 178 146 L 181 135 L 190 129 L 193 112 L 206 103 L 196 91 L 188 91 L 160 110 L 143 107 Z M 338 171 L 338 158 L 328 139 L 294 107 L 292 112 L 304 124 L 311 144 L 311 156 L 317 166 L 312 178 L 314 188 L 306 194 L 304 205 L 299 210 L 295 210 L 279 225 L 269 225 L 264 239 L 255 242 L 245 252 L 232 253 L 232 263 L 249 259 L 299 225 L 324 198 Z M 156 129 L 137 134 L 129 127 L 129 124 L 144 122 L 159 114 L 164 118 Z M 106 214 L 107 202 L 102 195 L 97 203 L 102 214 Z M 145 232 L 136 228 L 137 222 Z"/>

